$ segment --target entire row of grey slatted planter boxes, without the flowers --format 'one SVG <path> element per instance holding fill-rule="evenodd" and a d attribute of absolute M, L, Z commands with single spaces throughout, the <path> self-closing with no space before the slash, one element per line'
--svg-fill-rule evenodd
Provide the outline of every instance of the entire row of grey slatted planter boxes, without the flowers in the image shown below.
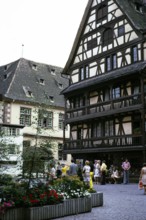
<path fill-rule="evenodd" d="M 90 198 L 67 199 L 57 205 L 46 205 L 32 208 L 8 209 L 0 220 L 48 220 L 79 213 L 91 212 L 92 207 L 103 205 L 103 193 L 91 193 Z"/>

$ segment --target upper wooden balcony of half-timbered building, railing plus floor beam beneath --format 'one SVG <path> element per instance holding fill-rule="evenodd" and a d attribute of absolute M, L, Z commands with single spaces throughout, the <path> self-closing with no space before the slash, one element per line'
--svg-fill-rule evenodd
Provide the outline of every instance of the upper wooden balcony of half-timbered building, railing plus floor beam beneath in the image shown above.
<path fill-rule="evenodd" d="M 82 106 L 75 109 L 66 109 L 66 122 L 70 123 L 74 120 L 85 120 L 96 116 L 104 116 L 105 114 L 115 114 L 116 112 L 132 111 L 139 109 L 141 102 L 140 95 L 122 97 L 106 102 Z"/>

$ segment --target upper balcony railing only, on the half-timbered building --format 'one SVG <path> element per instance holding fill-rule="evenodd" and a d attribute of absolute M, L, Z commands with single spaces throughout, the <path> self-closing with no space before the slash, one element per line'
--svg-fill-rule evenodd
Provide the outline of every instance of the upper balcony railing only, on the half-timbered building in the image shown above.
<path fill-rule="evenodd" d="M 76 118 L 93 113 L 124 109 L 127 107 L 139 105 L 141 103 L 142 102 L 141 102 L 140 94 L 132 95 L 110 101 L 99 102 L 88 106 L 77 107 L 74 109 L 67 109 L 66 115 L 67 115 L 67 119 Z"/>

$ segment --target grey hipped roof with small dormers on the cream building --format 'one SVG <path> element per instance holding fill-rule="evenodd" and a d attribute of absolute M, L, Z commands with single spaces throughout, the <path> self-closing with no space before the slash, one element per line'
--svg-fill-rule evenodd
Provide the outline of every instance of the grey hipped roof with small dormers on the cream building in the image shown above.
<path fill-rule="evenodd" d="M 52 69 L 55 75 L 51 74 Z M 61 72 L 61 67 L 21 58 L 0 67 L 0 95 L 3 99 L 64 107 L 64 97 L 60 93 L 68 86 L 68 79 L 63 78 Z M 40 79 L 44 80 L 44 85 Z M 32 92 L 32 97 L 26 95 L 25 88 Z M 50 96 L 54 102 L 50 101 Z"/>

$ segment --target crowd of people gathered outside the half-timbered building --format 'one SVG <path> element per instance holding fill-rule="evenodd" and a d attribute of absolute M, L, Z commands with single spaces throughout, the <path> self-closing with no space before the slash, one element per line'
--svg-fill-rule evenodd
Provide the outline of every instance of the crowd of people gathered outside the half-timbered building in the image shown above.
<path fill-rule="evenodd" d="M 126 158 L 125 161 L 123 161 L 121 164 L 123 184 L 129 183 L 130 168 L 131 164 Z M 67 175 L 79 176 L 80 179 L 83 180 L 90 189 L 93 189 L 93 182 L 95 184 L 101 185 L 106 184 L 106 177 L 108 172 L 110 173 L 110 177 L 113 180 L 113 183 L 117 183 L 118 179 L 121 177 L 117 167 L 111 165 L 110 169 L 108 170 L 105 160 L 94 160 L 94 163 L 92 161 L 86 160 L 85 164 L 83 165 L 81 162 L 76 164 L 72 159 L 70 166 L 65 164 L 61 165 L 58 162 L 57 168 L 55 169 L 55 167 L 51 165 L 49 175 L 51 180 Z M 141 169 L 140 180 L 143 182 L 144 193 L 146 194 L 146 163 L 144 163 Z"/>

